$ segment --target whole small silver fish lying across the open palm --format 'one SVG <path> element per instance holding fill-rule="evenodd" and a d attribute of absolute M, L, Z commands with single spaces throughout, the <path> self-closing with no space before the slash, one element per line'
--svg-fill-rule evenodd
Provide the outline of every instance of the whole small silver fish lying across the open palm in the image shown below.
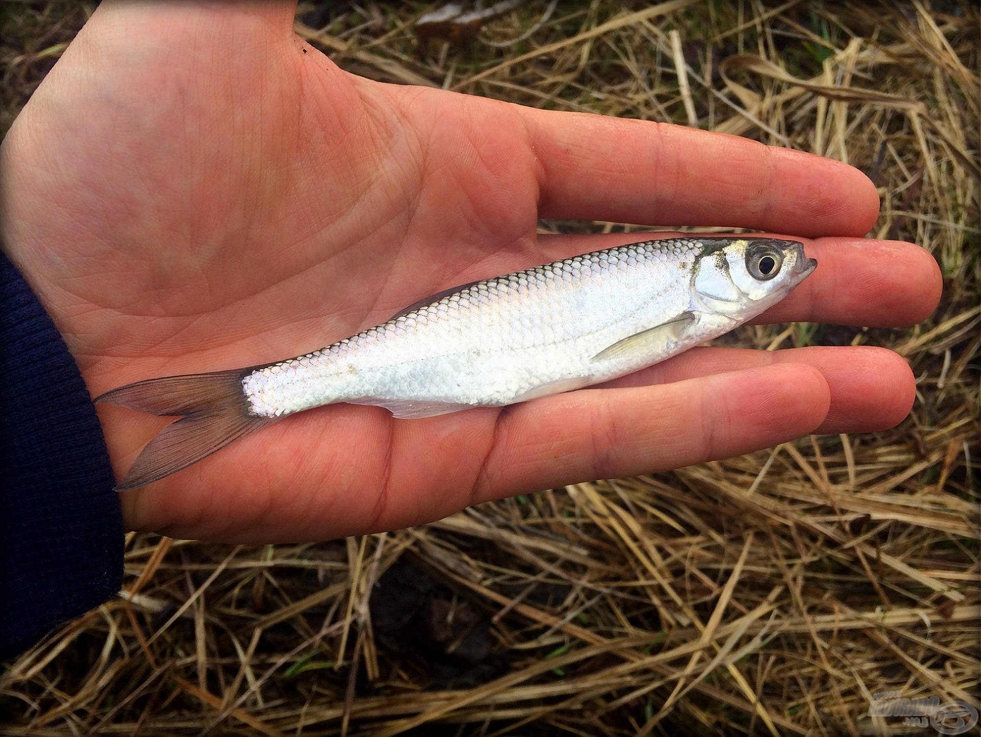
<path fill-rule="evenodd" d="M 645 240 L 439 292 L 306 355 L 129 384 L 96 401 L 181 419 L 143 448 L 117 490 L 322 404 L 432 417 L 615 379 L 742 325 L 816 266 L 795 240 Z"/>

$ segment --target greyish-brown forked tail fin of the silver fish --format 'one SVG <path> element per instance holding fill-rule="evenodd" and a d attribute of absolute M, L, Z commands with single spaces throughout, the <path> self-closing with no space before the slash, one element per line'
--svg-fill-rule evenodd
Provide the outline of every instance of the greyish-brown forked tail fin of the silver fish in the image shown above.
<path fill-rule="evenodd" d="M 148 379 L 96 397 L 97 402 L 181 417 L 143 448 L 116 491 L 159 481 L 275 422 L 275 417 L 248 411 L 241 382 L 251 370 Z"/>

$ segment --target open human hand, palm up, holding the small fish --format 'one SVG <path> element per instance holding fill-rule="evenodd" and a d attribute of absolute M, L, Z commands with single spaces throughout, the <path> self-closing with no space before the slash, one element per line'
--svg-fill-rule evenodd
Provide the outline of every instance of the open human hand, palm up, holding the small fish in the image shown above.
<path fill-rule="evenodd" d="M 107 0 L 5 140 L 4 242 L 93 396 L 286 358 L 428 293 L 640 239 L 537 236 L 540 217 L 815 238 L 817 271 L 757 322 L 900 326 L 936 305 L 929 254 L 859 238 L 878 199 L 850 167 L 361 79 L 300 42 L 293 12 Z M 884 429 L 913 397 L 904 361 L 871 347 L 697 348 L 615 384 L 425 420 L 322 407 L 124 495 L 124 513 L 178 537 L 325 539 Z M 166 423 L 99 414 L 120 476 Z"/>

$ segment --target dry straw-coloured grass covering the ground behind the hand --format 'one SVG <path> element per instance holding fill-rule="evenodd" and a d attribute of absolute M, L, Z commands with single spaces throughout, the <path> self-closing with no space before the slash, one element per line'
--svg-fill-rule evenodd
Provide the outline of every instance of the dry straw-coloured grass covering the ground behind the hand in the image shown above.
<path fill-rule="evenodd" d="M 942 266 L 934 317 L 738 342 L 893 347 L 918 377 L 911 416 L 362 539 L 131 535 L 124 596 L 0 675 L 5 733 L 932 734 L 868 716 L 873 694 L 978 707 L 974 4 L 531 0 L 420 42 L 430 9 L 301 8 L 298 30 L 375 79 L 736 132 L 867 171 L 872 235 Z M 84 16 L 8 8 L 5 127 Z"/>

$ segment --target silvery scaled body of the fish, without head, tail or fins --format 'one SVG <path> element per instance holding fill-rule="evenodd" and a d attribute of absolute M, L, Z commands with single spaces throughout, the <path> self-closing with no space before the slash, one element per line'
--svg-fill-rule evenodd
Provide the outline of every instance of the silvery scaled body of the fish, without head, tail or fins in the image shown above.
<path fill-rule="evenodd" d="M 660 357 L 591 364 L 638 327 L 688 308 L 684 264 L 704 247 L 697 239 L 649 240 L 490 279 L 258 369 L 243 378 L 244 393 L 260 417 L 366 397 L 400 414 L 406 401 L 502 406 L 563 381 L 606 381 Z"/>

